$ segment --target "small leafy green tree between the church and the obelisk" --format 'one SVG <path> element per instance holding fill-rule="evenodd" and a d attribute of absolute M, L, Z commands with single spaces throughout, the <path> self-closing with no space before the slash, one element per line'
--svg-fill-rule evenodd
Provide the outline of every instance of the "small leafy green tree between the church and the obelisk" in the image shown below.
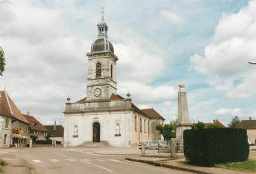
<path fill-rule="evenodd" d="M 158 130 L 159 133 L 164 137 L 164 141 L 169 141 L 170 139 L 175 137 L 175 125 L 172 123 L 156 125 L 156 130 Z"/>

